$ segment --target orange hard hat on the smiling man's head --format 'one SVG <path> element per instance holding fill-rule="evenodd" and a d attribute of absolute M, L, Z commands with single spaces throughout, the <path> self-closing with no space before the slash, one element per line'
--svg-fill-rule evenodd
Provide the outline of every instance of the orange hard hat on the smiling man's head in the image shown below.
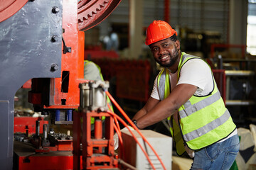
<path fill-rule="evenodd" d="M 177 35 L 177 32 L 171 28 L 169 23 L 166 23 L 165 21 L 153 21 L 146 29 L 145 44 L 151 45 L 159 40 L 170 38 L 174 34 Z"/>

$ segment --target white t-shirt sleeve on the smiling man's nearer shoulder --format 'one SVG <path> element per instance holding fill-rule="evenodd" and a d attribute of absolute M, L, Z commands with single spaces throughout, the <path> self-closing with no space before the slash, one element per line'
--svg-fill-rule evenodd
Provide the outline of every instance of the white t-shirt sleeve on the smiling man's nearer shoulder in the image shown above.
<path fill-rule="evenodd" d="M 203 96 L 213 90 L 213 77 L 210 67 L 200 59 L 188 60 L 181 67 L 178 84 L 191 84 L 198 87 L 196 94 Z"/>

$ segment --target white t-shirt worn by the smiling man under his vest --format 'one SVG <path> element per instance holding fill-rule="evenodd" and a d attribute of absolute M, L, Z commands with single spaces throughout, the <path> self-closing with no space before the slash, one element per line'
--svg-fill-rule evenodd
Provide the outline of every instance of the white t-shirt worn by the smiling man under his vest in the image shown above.
<path fill-rule="evenodd" d="M 192 59 L 188 60 L 183 66 L 181 67 L 181 75 L 178 79 L 178 72 L 174 74 L 169 74 L 169 79 L 171 82 L 171 91 L 174 87 L 178 84 L 191 84 L 197 86 L 198 89 L 196 90 L 196 96 L 206 96 L 211 91 L 213 91 L 213 77 L 210 67 L 206 62 L 201 59 Z M 151 97 L 160 100 L 159 92 L 157 90 L 157 77 L 154 81 L 154 87 L 151 92 Z M 174 117 L 176 117 L 174 115 Z M 236 135 L 238 133 L 237 130 L 234 130 L 228 137 L 219 142 L 223 142 L 227 140 L 229 137 Z M 188 153 L 189 154 L 189 153 Z"/>

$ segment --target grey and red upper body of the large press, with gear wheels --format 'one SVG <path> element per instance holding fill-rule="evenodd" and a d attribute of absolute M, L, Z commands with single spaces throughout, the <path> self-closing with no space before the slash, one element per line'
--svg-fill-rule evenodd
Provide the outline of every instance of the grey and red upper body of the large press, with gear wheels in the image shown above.
<path fill-rule="evenodd" d="M 35 111 L 67 114 L 69 110 L 78 108 L 78 84 L 85 81 L 82 31 L 104 20 L 119 2 L 1 1 L 1 169 L 12 169 L 13 166 L 16 91 L 32 79 L 29 101 Z"/>

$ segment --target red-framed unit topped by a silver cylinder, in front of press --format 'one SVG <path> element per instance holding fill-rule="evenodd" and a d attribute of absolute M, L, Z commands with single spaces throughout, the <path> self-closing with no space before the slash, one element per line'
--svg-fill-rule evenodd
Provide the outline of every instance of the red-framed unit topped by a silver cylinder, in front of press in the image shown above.
<path fill-rule="evenodd" d="M 102 112 L 107 111 L 107 99 L 103 89 L 107 89 L 108 86 L 109 84 L 104 81 L 80 84 L 79 111 L 73 114 L 74 169 L 80 169 L 81 155 L 83 169 L 117 169 L 118 160 L 114 153 L 113 139 L 114 118 L 109 113 Z M 95 118 L 94 124 L 91 124 L 91 118 Z"/>

